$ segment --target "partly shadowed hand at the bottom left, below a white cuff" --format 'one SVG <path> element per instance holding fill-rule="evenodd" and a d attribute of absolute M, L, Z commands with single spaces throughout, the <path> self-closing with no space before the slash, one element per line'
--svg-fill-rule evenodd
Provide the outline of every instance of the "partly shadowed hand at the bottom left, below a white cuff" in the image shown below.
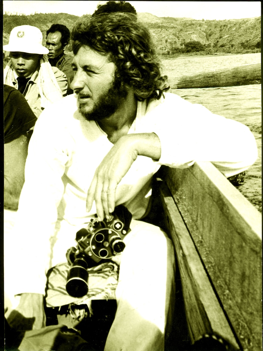
<path fill-rule="evenodd" d="M 15 330 L 41 329 L 46 326 L 43 295 L 21 294 L 18 307 L 7 317 L 8 324 Z"/>

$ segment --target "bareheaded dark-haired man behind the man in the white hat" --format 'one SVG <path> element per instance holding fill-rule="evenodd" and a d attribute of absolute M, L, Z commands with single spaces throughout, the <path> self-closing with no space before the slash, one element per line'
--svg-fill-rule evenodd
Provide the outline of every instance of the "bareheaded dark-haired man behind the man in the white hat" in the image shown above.
<path fill-rule="evenodd" d="M 66 74 L 68 80 L 67 95 L 72 94 L 70 83 L 73 80 L 73 71 L 71 67 L 72 56 L 65 53 L 69 44 L 69 29 L 62 24 L 53 24 L 47 30 L 46 47 L 49 51 L 48 61 L 51 66 L 57 67 Z"/>

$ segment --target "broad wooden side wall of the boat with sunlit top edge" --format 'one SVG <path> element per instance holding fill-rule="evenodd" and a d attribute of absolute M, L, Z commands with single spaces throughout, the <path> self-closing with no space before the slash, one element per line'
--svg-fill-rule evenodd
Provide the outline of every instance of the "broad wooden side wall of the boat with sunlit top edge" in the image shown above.
<path fill-rule="evenodd" d="M 165 179 L 243 349 L 261 350 L 261 214 L 211 163 Z"/>

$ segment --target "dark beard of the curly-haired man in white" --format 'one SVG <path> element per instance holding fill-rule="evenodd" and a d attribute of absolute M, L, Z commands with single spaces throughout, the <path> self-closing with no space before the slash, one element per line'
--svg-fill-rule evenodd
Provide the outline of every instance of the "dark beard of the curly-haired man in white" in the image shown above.
<path fill-rule="evenodd" d="M 111 86 L 106 93 L 103 93 L 95 102 L 92 111 L 85 111 L 85 105 L 79 105 L 80 113 L 88 121 L 100 121 L 109 118 L 120 107 L 123 100 L 127 97 L 127 89 L 121 78 L 114 78 Z"/>

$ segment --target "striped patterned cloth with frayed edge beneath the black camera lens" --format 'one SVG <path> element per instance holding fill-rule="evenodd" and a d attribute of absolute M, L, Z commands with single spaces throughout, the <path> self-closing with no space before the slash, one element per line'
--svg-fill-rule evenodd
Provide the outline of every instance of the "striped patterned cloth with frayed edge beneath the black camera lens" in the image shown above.
<path fill-rule="evenodd" d="M 66 291 L 67 274 L 70 265 L 59 264 L 48 273 L 47 307 L 60 307 L 69 304 L 86 304 L 92 314 L 91 300 L 115 299 L 115 290 L 119 277 L 119 266 L 108 261 L 88 269 L 88 293 L 84 297 L 72 297 Z"/>

